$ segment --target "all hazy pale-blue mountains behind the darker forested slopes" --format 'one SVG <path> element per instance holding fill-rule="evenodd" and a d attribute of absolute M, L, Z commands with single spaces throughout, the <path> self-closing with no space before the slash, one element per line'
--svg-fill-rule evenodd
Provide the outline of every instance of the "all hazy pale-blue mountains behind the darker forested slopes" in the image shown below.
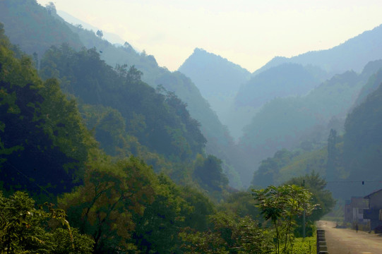
<path fill-rule="evenodd" d="M 333 49 L 275 57 L 254 73 L 203 49 L 195 49 L 179 71 L 170 72 L 129 43 L 112 44 L 97 37 L 91 25 L 73 17 L 71 25 L 32 2 L 0 1 L 0 22 L 13 44 L 34 55 L 37 63 L 49 47 L 67 43 L 74 49 L 95 48 L 112 68 L 135 66 L 145 83 L 163 85 L 186 102 L 208 140 L 206 152 L 223 160 L 235 187 L 248 185 L 258 162 L 276 150 L 294 149 L 319 133 L 318 140 L 326 140 L 330 120 L 343 124 L 357 97 L 357 103 L 363 102 L 381 76 L 381 25 Z M 362 88 L 370 76 L 374 83 L 369 80 Z M 317 130 L 318 125 L 323 127 Z"/>

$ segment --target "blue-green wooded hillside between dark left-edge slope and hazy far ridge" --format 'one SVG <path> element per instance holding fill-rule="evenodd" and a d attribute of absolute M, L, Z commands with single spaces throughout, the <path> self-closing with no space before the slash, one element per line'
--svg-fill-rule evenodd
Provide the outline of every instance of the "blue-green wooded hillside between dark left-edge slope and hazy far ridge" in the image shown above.
<path fill-rule="evenodd" d="M 117 109 L 124 117 L 127 133 L 150 150 L 184 160 L 203 153 L 205 138 L 184 103 L 143 83 L 136 68 L 120 66 L 113 70 L 100 60 L 95 49 L 75 52 L 64 44 L 47 51 L 41 73 L 43 78 L 65 80 L 64 91 L 82 103 Z"/>

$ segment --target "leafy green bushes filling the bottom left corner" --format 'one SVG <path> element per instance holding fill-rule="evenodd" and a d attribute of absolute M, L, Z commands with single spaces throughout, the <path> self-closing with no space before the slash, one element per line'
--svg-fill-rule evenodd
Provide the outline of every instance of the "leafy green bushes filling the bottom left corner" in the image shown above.
<path fill-rule="evenodd" d="M 47 209 L 44 209 L 47 207 Z M 1 253 L 92 253 L 92 239 L 71 229 L 64 210 L 35 207 L 27 193 L 0 192 Z"/>

